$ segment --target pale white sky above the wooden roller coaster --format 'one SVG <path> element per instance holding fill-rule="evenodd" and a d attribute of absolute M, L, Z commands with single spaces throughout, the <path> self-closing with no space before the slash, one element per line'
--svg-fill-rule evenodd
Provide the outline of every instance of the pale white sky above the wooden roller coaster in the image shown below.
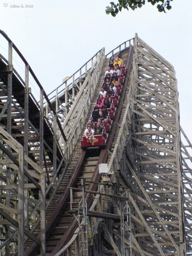
<path fill-rule="evenodd" d="M 3 7 L 4 3 L 8 6 Z M 109 3 L 110 0 L 0 0 L 0 29 L 29 62 L 46 93 L 75 73 L 99 49 L 105 47 L 108 53 L 137 32 L 175 67 L 180 123 L 192 141 L 192 0 L 173 0 L 167 14 L 146 3 L 134 12 L 123 10 L 115 18 L 105 14 Z M 33 7 L 11 8 L 14 4 Z M 1 46 L 0 41 L 0 53 Z"/>

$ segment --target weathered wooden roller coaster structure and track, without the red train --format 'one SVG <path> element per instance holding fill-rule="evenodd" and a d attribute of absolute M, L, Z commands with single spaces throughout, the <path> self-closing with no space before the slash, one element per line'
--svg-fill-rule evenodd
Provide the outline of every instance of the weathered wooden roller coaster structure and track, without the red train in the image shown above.
<path fill-rule="evenodd" d="M 192 255 L 192 145 L 172 65 L 136 34 L 47 95 L 0 36 L 8 45 L 0 54 L 0 256 Z M 84 151 L 115 55 L 126 72 L 106 147 Z"/>

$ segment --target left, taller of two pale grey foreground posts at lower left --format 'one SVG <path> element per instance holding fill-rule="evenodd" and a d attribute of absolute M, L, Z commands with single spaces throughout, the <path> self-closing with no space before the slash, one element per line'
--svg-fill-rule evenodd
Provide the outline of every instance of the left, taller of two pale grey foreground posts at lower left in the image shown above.
<path fill-rule="evenodd" d="M 19 148 L 18 255 L 24 254 L 24 149 Z"/>

